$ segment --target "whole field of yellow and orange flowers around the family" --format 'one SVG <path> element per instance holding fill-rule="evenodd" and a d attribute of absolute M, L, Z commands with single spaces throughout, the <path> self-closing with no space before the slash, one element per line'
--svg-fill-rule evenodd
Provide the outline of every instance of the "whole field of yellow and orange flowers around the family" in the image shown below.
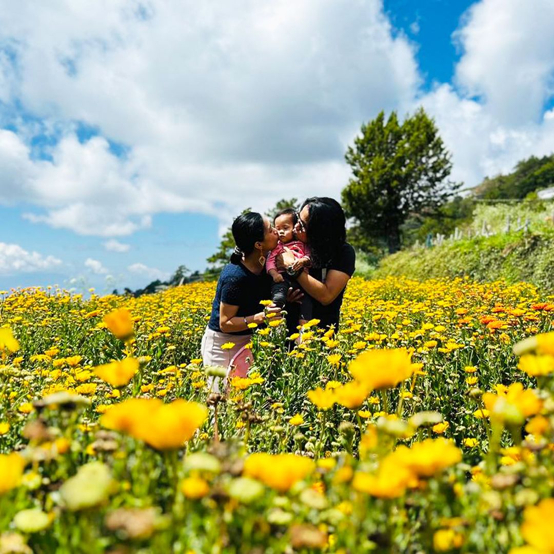
<path fill-rule="evenodd" d="M 553 296 L 354 278 L 223 395 L 214 288 L 0 293 L 1 554 L 554 552 Z"/>

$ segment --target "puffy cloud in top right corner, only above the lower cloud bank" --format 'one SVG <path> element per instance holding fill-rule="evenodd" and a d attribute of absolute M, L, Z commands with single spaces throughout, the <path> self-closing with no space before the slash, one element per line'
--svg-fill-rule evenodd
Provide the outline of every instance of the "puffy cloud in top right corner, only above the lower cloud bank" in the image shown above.
<path fill-rule="evenodd" d="M 455 37 L 463 49 L 456 80 L 482 95 L 500 124 L 539 122 L 554 93 L 554 2 L 483 0 Z"/>

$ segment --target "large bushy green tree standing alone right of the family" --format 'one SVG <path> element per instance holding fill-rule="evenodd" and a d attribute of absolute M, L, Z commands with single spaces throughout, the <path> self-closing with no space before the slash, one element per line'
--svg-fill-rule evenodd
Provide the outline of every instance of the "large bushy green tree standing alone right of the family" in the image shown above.
<path fill-rule="evenodd" d="M 395 111 L 361 127 L 346 152 L 352 177 L 342 191 L 348 217 L 359 233 L 384 241 L 389 252 L 401 246 L 406 219 L 424 208 L 437 209 L 459 184 L 447 181 L 452 162 L 433 119 L 423 108 L 402 124 Z"/>

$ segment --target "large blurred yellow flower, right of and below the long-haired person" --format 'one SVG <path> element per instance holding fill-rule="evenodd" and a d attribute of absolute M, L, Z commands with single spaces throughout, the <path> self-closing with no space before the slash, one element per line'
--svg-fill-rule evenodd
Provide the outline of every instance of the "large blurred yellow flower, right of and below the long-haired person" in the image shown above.
<path fill-rule="evenodd" d="M 363 352 L 350 362 L 348 370 L 370 389 L 396 387 L 414 371 L 411 356 L 402 348 L 379 348 Z"/>

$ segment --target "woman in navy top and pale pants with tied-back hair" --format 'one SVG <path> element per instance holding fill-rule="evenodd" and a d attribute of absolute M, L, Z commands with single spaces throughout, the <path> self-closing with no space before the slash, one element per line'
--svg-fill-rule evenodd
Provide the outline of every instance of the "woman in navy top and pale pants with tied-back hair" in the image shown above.
<path fill-rule="evenodd" d="M 212 314 L 202 337 L 204 366 L 228 367 L 235 353 L 250 342 L 248 325 L 263 324 L 266 313 L 280 312 L 278 307 L 264 311 L 260 305 L 271 297 L 272 280 L 264 264 L 278 242 L 275 228 L 269 219 L 249 212 L 237 217 L 231 230 L 237 247 L 217 282 Z M 221 346 L 227 342 L 233 347 L 223 350 Z"/>

